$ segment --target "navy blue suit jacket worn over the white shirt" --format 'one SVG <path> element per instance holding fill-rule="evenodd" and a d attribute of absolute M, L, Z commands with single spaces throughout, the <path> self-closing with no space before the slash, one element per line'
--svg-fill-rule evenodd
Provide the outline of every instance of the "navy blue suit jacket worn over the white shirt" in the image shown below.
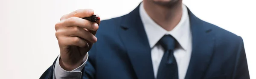
<path fill-rule="evenodd" d="M 185 79 L 249 79 L 242 38 L 188 12 L 192 54 Z M 83 79 L 154 79 L 151 48 L 139 7 L 103 20 L 96 37 L 98 41 L 88 52 L 82 70 Z M 41 79 L 52 79 L 54 65 Z"/>

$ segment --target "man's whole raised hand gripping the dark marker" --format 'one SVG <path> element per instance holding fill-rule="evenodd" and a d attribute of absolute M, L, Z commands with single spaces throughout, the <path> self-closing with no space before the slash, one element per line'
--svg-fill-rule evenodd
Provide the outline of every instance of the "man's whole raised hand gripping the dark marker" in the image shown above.
<path fill-rule="evenodd" d="M 82 19 L 94 14 L 91 9 L 79 9 L 61 17 L 55 24 L 56 38 L 60 48 L 60 66 L 72 71 L 82 64 L 82 59 L 97 41 L 95 37 L 100 20 L 96 23 Z"/>

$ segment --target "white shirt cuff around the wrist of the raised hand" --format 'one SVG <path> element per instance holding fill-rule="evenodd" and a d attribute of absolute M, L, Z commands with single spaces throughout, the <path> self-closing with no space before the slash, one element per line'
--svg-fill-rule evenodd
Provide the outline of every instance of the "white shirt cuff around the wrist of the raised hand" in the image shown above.
<path fill-rule="evenodd" d="M 57 61 L 55 63 L 55 71 L 54 71 L 55 79 L 81 79 L 81 76 L 82 76 L 81 71 L 84 68 L 85 63 L 87 62 L 88 52 L 84 56 L 84 59 L 82 60 L 83 64 L 72 71 L 66 71 L 63 68 L 61 68 L 61 66 L 59 65 L 59 59 L 60 59 L 60 55 L 58 56 Z"/>

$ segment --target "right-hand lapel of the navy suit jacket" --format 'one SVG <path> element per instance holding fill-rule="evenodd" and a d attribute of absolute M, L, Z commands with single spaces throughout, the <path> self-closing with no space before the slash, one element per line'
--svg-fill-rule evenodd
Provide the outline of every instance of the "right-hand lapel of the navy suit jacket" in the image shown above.
<path fill-rule="evenodd" d="M 188 9 L 192 31 L 192 54 L 185 79 L 202 79 L 214 52 L 215 38 L 209 26 Z"/>

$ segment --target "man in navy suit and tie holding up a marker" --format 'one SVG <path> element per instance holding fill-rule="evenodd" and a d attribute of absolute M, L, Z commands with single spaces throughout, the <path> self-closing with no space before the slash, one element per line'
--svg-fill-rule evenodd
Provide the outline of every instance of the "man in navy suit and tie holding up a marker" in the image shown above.
<path fill-rule="evenodd" d="M 250 79 L 241 37 L 200 20 L 182 0 L 143 0 L 92 23 L 80 9 L 56 23 L 60 55 L 40 79 Z"/>

